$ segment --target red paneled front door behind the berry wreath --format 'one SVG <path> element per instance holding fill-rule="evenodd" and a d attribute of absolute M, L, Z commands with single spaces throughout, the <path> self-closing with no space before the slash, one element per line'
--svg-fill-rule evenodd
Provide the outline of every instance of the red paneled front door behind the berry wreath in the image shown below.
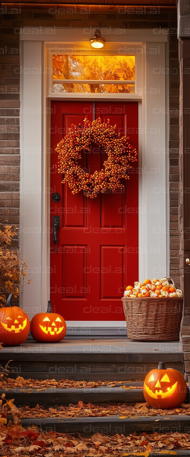
<path fill-rule="evenodd" d="M 73 195 L 53 165 L 57 143 L 84 117 L 110 119 L 138 150 L 138 103 L 52 101 L 51 113 L 51 194 L 61 197 L 60 202 L 51 198 L 50 205 L 51 227 L 53 216 L 60 217 L 56 252 L 51 233 L 52 306 L 66 320 L 124 320 L 121 297 L 139 275 L 137 162 L 123 189 L 108 189 L 93 199 L 82 191 Z M 105 158 L 103 149 L 92 144 L 81 163 L 92 174 Z"/>

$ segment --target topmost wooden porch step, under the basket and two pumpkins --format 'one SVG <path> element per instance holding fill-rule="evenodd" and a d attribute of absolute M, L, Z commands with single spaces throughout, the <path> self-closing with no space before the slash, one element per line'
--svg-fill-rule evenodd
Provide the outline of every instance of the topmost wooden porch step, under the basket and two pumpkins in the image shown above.
<path fill-rule="evenodd" d="M 179 341 L 62 340 L 46 344 L 27 340 L 3 347 L 1 363 L 10 362 L 10 377 L 76 381 L 144 381 L 164 361 L 184 373 Z M 4 363 L 3 363 L 4 362 Z"/>

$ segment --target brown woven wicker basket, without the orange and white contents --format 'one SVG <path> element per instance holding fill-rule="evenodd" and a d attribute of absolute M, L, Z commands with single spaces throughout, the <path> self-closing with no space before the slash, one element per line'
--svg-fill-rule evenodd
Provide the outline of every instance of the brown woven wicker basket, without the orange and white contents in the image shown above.
<path fill-rule="evenodd" d="M 183 298 L 122 298 L 127 334 L 133 340 L 179 340 Z"/>

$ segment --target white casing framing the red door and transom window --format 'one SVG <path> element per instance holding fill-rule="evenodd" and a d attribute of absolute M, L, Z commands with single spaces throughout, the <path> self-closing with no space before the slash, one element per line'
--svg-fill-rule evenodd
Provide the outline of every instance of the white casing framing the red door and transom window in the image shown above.
<path fill-rule="evenodd" d="M 110 94 L 53 94 L 48 55 L 89 47 L 87 29 L 25 27 L 21 40 L 21 218 L 20 248 L 31 284 L 21 291 L 21 306 L 31 317 L 45 311 L 50 288 L 50 101 L 108 100 Z M 92 32 L 92 31 L 91 31 Z M 105 36 L 106 37 L 106 36 Z M 107 37 L 106 37 L 107 38 Z M 116 41 L 114 41 L 116 40 Z M 107 46 L 107 47 L 106 47 Z M 139 101 L 139 280 L 169 276 L 169 106 L 166 29 L 125 30 L 108 35 L 104 53 L 136 53 L 135 94 L 116 100 Z M 129 51 L 129 49 L 133 49 Z M 70 51 L 69 51 L 70 50 Z M 73 51 L 74 50 L 74 51 Z M 138 51 L 139 50 L 139 51 Z M 128 52 L 129 51 L 129 52 Z M 56 52 L 56 51 L 55 51 Z M 112 98 L 113 100 L 113 98 Z M 121 322 L 78 322 L 79 327 L 119 327 Z"/>

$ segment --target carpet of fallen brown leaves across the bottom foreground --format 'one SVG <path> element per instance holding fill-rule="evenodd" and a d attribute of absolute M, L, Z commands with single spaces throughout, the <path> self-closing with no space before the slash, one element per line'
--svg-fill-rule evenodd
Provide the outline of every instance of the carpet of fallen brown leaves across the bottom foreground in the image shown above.
<path fill-rule="evenodd" d="M 141 433 L 133 435 L 105 436 L 95 433 L 90 438 L 83 438 L 79 433 L 46 433 L 37 428 L 25 430 L 20 425 L 1 426 L 0 455 L 6 457 L 62 457 L 74 456 L 149 456 L 149 452 L 168 450 L 175 455 L 175 449 L 190 449 L 188 433 Z"/>

